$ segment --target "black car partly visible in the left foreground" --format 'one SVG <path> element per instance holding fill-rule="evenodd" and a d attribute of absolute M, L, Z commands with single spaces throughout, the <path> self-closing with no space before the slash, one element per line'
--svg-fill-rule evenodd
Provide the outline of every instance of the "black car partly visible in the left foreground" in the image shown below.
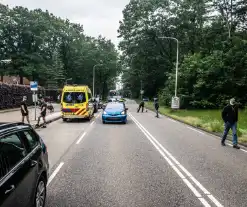
<path fill-rule="evenodd" d="M 28 124 L 0 123 L 0 206 L 44 207 L 47 148 Z"/>

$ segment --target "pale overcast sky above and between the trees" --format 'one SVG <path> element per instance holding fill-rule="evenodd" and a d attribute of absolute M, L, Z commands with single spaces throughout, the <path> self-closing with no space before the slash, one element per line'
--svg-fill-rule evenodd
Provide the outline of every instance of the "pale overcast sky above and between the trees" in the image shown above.
<path fill-rule="evenodd" d="M 122 10 L 129 0 L 0 0 L 9 6 L 49 10 L 56 16 L 83 24 L 85 34 L 100 34 L 117 44 L 117 29 Z"/>

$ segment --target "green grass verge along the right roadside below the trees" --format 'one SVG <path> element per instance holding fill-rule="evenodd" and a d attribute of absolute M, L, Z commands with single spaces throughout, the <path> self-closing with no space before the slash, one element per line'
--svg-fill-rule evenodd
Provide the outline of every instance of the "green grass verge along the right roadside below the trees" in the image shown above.
<path fill-rule="evenodd" d="M 145 107 L 154 110 L 153 103 L 145 103 Z M 224 130 L 221 110 L 172 110 L 161 106 L 160 113 L 209 132 L 222 133 Z M 231 133 L 231 132 L 230 132 Z M 239 112 L 239 143 L 247 144 L 247 110 Z"/>

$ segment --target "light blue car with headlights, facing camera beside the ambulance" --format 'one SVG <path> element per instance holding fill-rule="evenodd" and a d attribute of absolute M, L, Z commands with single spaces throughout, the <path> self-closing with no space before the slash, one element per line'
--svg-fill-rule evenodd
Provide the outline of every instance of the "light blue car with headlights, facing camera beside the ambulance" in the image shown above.
<path fill-rule="evenodd" d="M 127 108 L 124 103 L 108 103 L 102 114 L 102 122 L 105 123 L 127 123 Z"/>

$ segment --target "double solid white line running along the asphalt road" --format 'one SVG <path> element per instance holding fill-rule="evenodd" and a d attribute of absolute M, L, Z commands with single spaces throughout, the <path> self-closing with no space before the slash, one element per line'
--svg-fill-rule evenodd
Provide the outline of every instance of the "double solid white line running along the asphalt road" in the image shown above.
<path fill-rule="evenodd" d="M 182 172 L 179 171 L 177 167 L 174 166 L 171 160 L 189 177 L 197 186 L 202 190 L 202 192 L 208 196 L 208 198 L 217 206 L 217 207 L 223 207 L 223 205 L 213 196 L 210 194 L 208 190 L 206 190 L 205 187 L 203 187 L 202 184 L 198 180 L 196 180 L 191 173 L 188 172 L 177 160 L 173 155 L 168 152 L 149 132 L 148 130 L 143 127 L 132 114 L 129 114 L 132 120 L 136 123 L 136 125 L 140 128 L 140 130 L 146 135 L 146 137 L 149 139 L 149 141 L 154 145 L 154 147 L 160 152 L 160 154 L 165 158 L 165 160 L 168 161 L 168 164 L 175 170 L 175 172 L 179 175 L 181 179 L 186 180 L 184 181 L 185 184 L 190 188 L 190 190 L 194 193 L 194 195 L 201 201 L 201 203 L 208 207 L 210 204 L 202 198 L 202 196 L 199 196 L 200 193 L 193 187 L 193 185 L 185 178 L 185 176 L 182 174 Z M 167 157 L 166 155 L 169 157 Z M 171 159 L 171 160 L 170 160 Z M 175 168 L 174 168 L 175 167 Z M 179 172 L 179 173 L 178 173 Z M 193 187 L 193 188 L 192 188 Z"/>

